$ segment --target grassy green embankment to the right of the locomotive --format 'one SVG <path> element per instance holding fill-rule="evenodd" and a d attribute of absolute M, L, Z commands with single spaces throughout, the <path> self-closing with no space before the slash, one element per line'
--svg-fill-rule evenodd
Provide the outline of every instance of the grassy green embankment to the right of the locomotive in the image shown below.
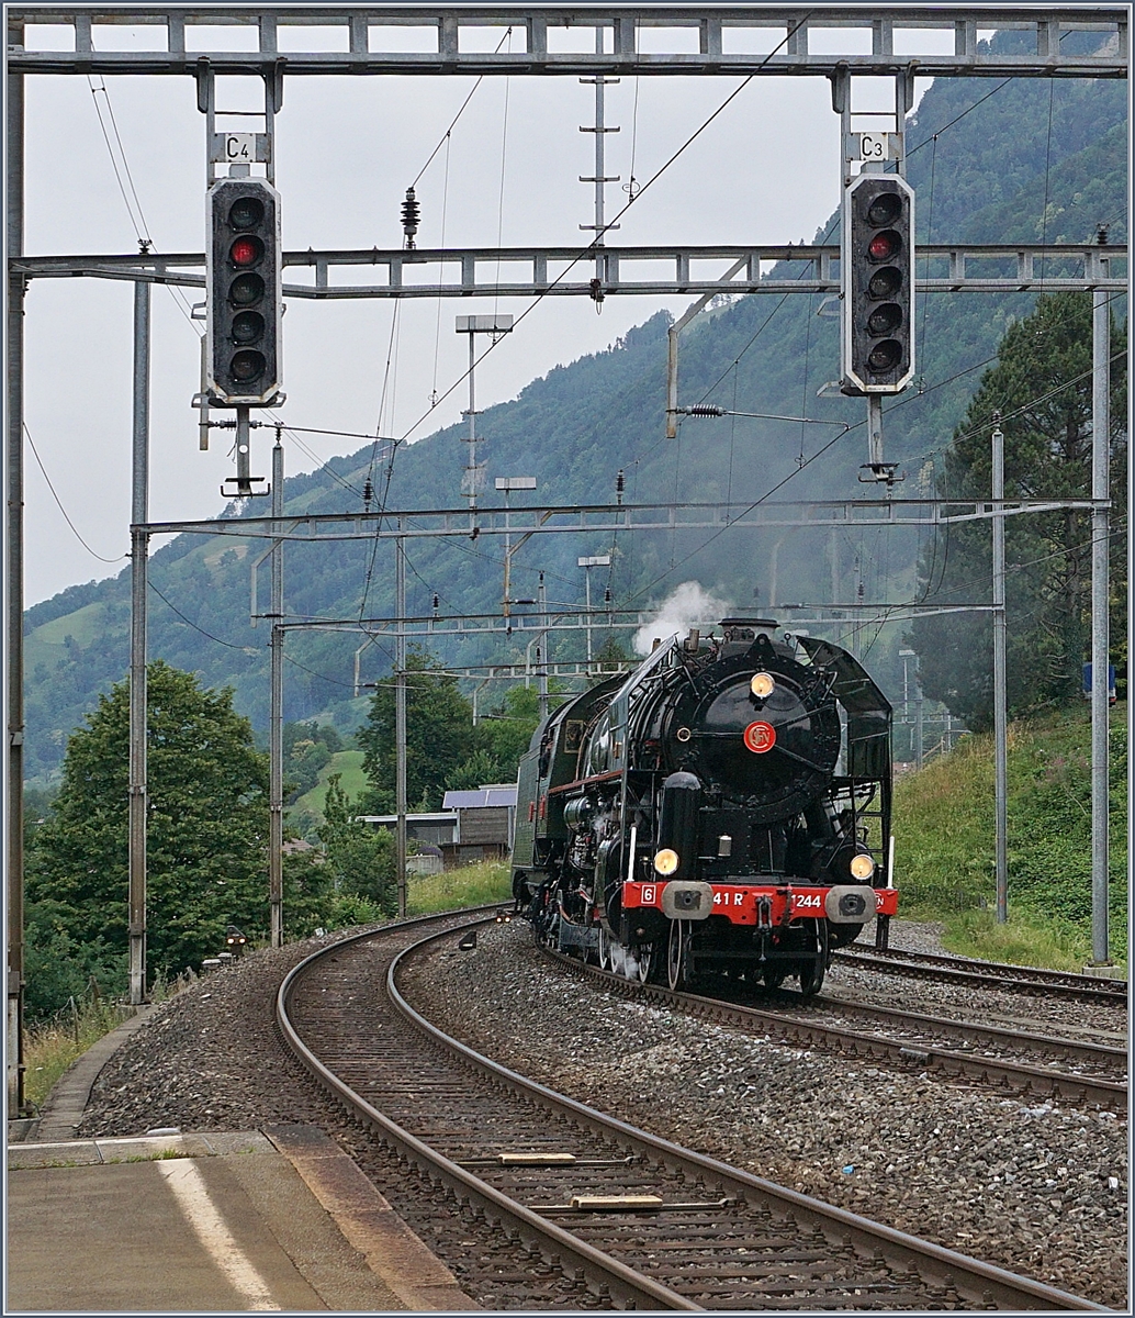
<path fill-rule="evenodd" d="M 1127 961 L 1127 737 L 1111 713 L 1111 957 Z M 1009 915 L 993 923 L 993 738 L 966 737 L 895 787 L 902 912 L 944 919 L 948 946 L 1078 970 L 1092 954 L 1092 725 L 1088 705 L 1009 730 Z"/>

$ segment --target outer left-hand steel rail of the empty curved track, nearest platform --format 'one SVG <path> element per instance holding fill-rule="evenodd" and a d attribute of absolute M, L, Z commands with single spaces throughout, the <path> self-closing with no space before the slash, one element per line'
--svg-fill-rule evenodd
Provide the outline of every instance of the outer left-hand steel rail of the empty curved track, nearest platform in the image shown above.
<path fill-rule="evenodd" d="M 473 912 L 473 919 L 465 920 L 461 924 L 450 925 L 442 934 L 438 934 L 438 937 L 452 934 L 462 928 L 485 921 L 485 916 L 479 912 Z M 452 920 L 453 912 L 448 912 L 445 916 L 427 916 L 420 917 L 419 920 L 400 921 L 398 925 L 388 927 L 388 929 L 392 932 L 395 929 L 404 929 L 407 924 L 436 923 L 438 919 Z M 561 1227 L 557 1227 L 554 1223 L 545 1220 L 537 1213 L 524 1207 L 524 1205 L 510 1199 L 507 1195 L 502 1194 L 500 1190 L 482 1181 L 463 1166 L 458 1166 L 458 1164 L 450 1161 L 436 1149 L 429 1148 L 429 1145 L 417 1139 L 417 1136 L 412 1135 L 407 1130 L 403 1130 L 403 1127 L 398 1126 L 395 1122 L 390 1120 L 390 1118 L 384 1116 L 375 1107 L 367 1103 L 365 1098 L 357 1094 L 349 1085 L 341 1081 L 338 1075 L 329 1070 L 319 1060 L 316 1053 L 312 1052 L 312 1049 L 303 1041 L 288 1014 L 291 998 L 298 983 L 312 966 L 319 963 L 329 953 L 341 950 L 344 946 L 350 946 L 352 944 L 381 937 L 384 932 L 387 931 L 370 929 L 350 938 L 344 938 L 328 948 L 321 948 L 319 952 L 312 953 L 312 956 L 305 957 L 299 962 L 299 965 L 294 966 L 292 970 L 288 971 L 277 992 L 275 1014 L 280 1033 L 292 1053 L 295 1053 L 312 1075 L 315 1075 L 315 1078 L 325 1089 L 329 1089 L 350 1112 L 378 1131 L 383 1139 L 392 1144 L 403 1156 L 409 1159 L 409 1161 L 420 1168 L 427 1176 L 432 1180 L 441 1180 L 458 1195 L 466 1195 L 475 1199 L 487 1214 L 502 1222 L 507 1222 L 512 1230 L 520 1234 L 520 1239 L 524 1240 L 525 1244 L 540 1248 L 540 1251 L 548 1256 L 550 1261 L 570 1263 L 577 1268 L 582 1268 L 589 1280 L 596 1282 L 598 1285 L 607 1286 L 612 1296 L 623 1300 L 623 1302 L 629 1307 L 700 1311 L 700 1305 L 691 1304 L 685 1298 L 685 1296 L 679 1296 L 677 1292 L 670 1290 L 669 1286 L 664 1286 L 660 1282 L 653 1281 L 650 1277 L 641 1276 L 632 1268 L 620 1263 L 618 1259 L 612 1259 L 600 1249 L 587 1244 L 585 1240 L 577 1239 Z"/>

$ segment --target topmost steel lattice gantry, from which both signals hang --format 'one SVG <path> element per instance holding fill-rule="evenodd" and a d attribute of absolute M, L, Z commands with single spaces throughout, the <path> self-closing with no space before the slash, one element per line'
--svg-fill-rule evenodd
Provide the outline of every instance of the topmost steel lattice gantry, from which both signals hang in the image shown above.
<path fill-rule="evenodd" d="M 514 7 L 341 7 L 320 5 L 12 5 L 8 8 L 12 72 L 29 74 L 192 74 L 207 61 L 217 74 L 596 74 L 681 76 L 723 74 L 810 74 L 840 71 L 866 75 L 918 72 L 924 78 L 1123 78 L 1127 70 L 1126 7 L 949 7 L 844 5 L 664 7 L 553 5 Z M 58 25 L 74 33 L 71 50 L 26 49 L 25 24 Z M 115 50 L 100 33 L 108 28 L 153 28 L 153 50 Z M 230 33 L 230 49 L 212 49 L 209 28 Z M 303 29 L 334 29 L 337 50 L 304 50 Z M 511 28 L 524 50 L 478 50 L 478 29 Z M 571 49 L 573 29 L 589 36 L 603 29 L 604 49 L 594 38 Z M 391 41 L 395 29 L 400 40 Z M 657 41 L 643 36 L 665 30 Z M 1027 53 L 994 54 L 980 32 L 1020 30 Z M 415 34 L 406 40 L 407 32 Z M 822 54 L 814 34 L 839 32 L 847 54 Z M 1085 55 L 1068 42 L 1073 33 L 1102 33 L 1097 53 Z M 943 34 L 947 54 L 918 50 L 919 34 Z M 13 43 L 14 34 L 14 43 Z M 283 40 L 282 40 L 283 38 Z M 833 42 L 826 40 L 824 46 Z M 324 42 L 312 42 L 324 45 Z M 416 49 L 388 49 L 412 45 Z M 587 46 L 591 49 L 587 49 Z M 862 47 L 869 46 L 868 51 Z M 566 47 L 566 49 L 565 49 Z M 1031 47 L 1031 49 L 1028 49 Z"/>

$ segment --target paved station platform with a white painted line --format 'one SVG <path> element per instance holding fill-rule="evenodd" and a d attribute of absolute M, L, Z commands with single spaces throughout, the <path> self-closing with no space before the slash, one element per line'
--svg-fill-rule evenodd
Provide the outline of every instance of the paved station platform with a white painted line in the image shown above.
<path fill-rule="evenodd" d="M 471 1311 L 323 1131 L 8 1145 L 5 1313 Z"/>

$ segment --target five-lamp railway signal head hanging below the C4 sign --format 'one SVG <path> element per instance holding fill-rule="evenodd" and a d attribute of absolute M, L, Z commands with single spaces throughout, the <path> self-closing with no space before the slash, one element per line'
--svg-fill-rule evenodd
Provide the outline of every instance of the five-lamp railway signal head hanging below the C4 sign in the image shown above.
<path fill-rule="evenodd" d="M 279 194 L 259 178 L 225 178 L 208 212 L 209 389 L 228 406 L 266 406 L 282 384 Z"/>

